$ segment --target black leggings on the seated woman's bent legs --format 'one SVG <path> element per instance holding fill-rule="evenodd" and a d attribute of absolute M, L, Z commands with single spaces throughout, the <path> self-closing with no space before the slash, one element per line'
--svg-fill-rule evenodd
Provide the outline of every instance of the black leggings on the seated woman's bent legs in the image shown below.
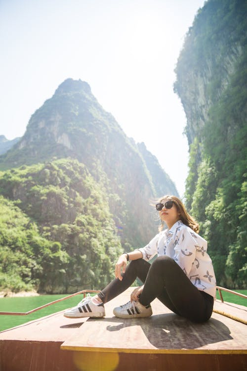
<path fill-rule="evenodd" d="M 172 312 L 193 322 L 205 322 L 211 317 L 213 297 L 198 290 L 168 256 L 160 256 L 152 264 L 143 259 L 132 260 L 122 276 L 122 281 L 115 278 L 98 293 L 103 303 L 124 292 L 138 277 L 145 282 L 139 297 L 142 305 L 158 298 Z"/>

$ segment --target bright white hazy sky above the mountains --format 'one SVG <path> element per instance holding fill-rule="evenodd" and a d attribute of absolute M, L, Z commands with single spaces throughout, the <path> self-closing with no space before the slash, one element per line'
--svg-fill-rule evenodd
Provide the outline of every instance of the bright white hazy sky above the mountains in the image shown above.
<path fill-rule="evenodd" d="M 189 148 L 174 68 L 204 2 L 0 0 L 0 135 L 23 136 L 65 79 L 81 79 L 183 197 Z"/>

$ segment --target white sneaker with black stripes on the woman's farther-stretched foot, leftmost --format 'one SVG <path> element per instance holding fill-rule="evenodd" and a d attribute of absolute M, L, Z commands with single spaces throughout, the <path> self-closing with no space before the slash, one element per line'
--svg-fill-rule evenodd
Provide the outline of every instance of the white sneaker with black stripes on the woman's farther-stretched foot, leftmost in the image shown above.
<path fill-rule="evenodd" d="M 82 299 L 80 303 L 74 308 L 67 309 L 64 312 L 64 317 L 67 318 L 81 318 L 81 317 L 105 317 L 104 304 L 99 305 L 92 303 L 90 294 Z"/>

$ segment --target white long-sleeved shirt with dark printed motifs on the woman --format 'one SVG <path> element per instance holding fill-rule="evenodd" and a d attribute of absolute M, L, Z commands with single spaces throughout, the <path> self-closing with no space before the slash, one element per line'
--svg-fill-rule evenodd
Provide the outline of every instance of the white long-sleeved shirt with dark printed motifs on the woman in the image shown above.
<path fill-rule="evenodd" d="M 150 260 L 156 254 L 174 259 L 199 290 L 215 298 L 216 279 L 206 249 L 206 240 L 179 220 L 170 230 L 158 233 L 138 250 L 145 260 Z"/>

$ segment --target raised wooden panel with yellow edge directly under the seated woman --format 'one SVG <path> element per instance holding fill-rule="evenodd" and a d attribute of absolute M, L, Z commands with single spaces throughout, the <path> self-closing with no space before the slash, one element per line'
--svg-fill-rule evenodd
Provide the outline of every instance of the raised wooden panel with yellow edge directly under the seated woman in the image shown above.
<path fill-rule="evenodd" d="M 150 354 L 247 354 L 247 326 L 217 313 L 213 313 L 204 324 L 194 324 L 175 315 L 155 299 L 150 318 L 114 317 L 113 308 L 127 302 L 132 290 L 133 287 L 127 289 L 105 304 L 106 317 L 88 319 L 61 345 L 61 349 Z M 226 310 L 226 305 L 220 308 Z"/>

